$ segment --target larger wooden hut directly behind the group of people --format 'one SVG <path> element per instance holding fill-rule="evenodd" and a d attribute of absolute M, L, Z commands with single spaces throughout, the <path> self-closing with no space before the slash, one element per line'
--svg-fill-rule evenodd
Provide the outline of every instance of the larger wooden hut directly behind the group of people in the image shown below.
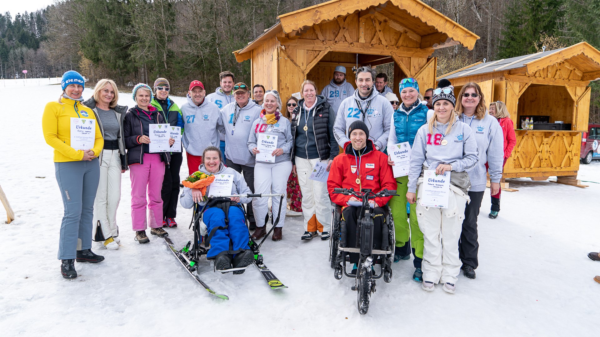
<path fill-rule="evenodd" d="M 394 92 L 404 77 L 433 87 L 434 50 L 462 44 L 473 49 L 477 35 L 418 0 L 332 0 L 283 14 L 280 21 L 233 52 L 250 59 L 251 83 L 277 89 L 286 100 L 305 79 L 320 91 L 337 65 L 355 86 L 352 67 L 394 62 Z"/>

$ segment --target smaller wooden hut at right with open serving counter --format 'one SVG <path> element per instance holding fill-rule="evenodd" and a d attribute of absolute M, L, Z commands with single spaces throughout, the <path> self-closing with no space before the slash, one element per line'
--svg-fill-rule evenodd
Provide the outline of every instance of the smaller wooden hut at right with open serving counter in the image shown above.
<path fill-rule="evenodd" d="M 506 103 L 517 145 L 504 167 L 505 177 L 545 180 L 558 176 L 559 182 L 581 186 L 577 180 L 581 133 L 587 131 L 589 118 L 587 85 L 600 79 L 598 50 L 581 42 L 516 58 L 478 62 L 437 79 L 443 78 L 452 82 L 457 94 L 463 85 L 475 82 L 481 86 L 486 104 Z M 557 130 L 521 130 L 524 116 L 548 116 L 549 124 L 560 121 L 565 125 L 548 126 Z"/>

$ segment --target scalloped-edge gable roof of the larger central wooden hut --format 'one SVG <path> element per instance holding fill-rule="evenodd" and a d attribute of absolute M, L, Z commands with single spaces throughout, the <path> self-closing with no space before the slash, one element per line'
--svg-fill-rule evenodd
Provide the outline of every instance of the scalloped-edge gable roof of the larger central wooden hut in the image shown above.
<path fill-rule="evenodd" d="M 375 16 L 387 17 L 395 29 L 421 41 L 422 49 L 439 49 L 462 44 L 473 49 L 479 36 L 419 0 L 331 0 L 279 16 L 279 22 L 233 52 L 238 62 L 271 37 L 302 34 L 313 25 L 375 7 Z"/>

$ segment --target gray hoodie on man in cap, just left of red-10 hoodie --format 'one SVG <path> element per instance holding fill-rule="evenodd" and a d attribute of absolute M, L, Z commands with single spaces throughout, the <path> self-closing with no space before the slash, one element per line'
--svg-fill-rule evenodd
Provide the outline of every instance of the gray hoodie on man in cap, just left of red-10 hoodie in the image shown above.
<path fill-rule="evenodd" d="M 238 119 L 235 119 L 236 110 L 239 112 Z M 254 167 L 256 161 L 248 151 L 248 136 L 250 131 L 254 131 L 253 122 L 259 118 L 261 110 L 262 108 L 251 100 L 241 111 L 235 101 L 221 110 L 221 119 L 225 127 L 225 157 L 233 163 Z"/>

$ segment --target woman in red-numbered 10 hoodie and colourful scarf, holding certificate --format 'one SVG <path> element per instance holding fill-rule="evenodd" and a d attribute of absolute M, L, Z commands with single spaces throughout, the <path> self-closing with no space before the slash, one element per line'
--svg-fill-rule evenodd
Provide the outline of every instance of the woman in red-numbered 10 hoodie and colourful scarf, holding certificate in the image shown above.
<path fill-rule="evenodd" d="M 281 99 L 277 91 L 269 90 L 263 96 L 263 110 L 260 117 L 252 124 L 248 136 L 248 149 L 256 156 L 254 166 L 254 193 L 284 194 L 287 189 L 287 178 L 292 171 L 293 139 L 290 122 L 281 115 Z M 281 208 L 281 214 L 278 210 Z M 269 212 L 268 199 L 256 198 L 253 201 L 256 231 L 253 239 L 260 239 L 266 234 L 265 216 Z M 286 219 L 286 206 L 280 199 L 272 198 L 272 216 L 280 217 L 273 231 L 272 240 L 281 240 L 282 228 Z"/>

